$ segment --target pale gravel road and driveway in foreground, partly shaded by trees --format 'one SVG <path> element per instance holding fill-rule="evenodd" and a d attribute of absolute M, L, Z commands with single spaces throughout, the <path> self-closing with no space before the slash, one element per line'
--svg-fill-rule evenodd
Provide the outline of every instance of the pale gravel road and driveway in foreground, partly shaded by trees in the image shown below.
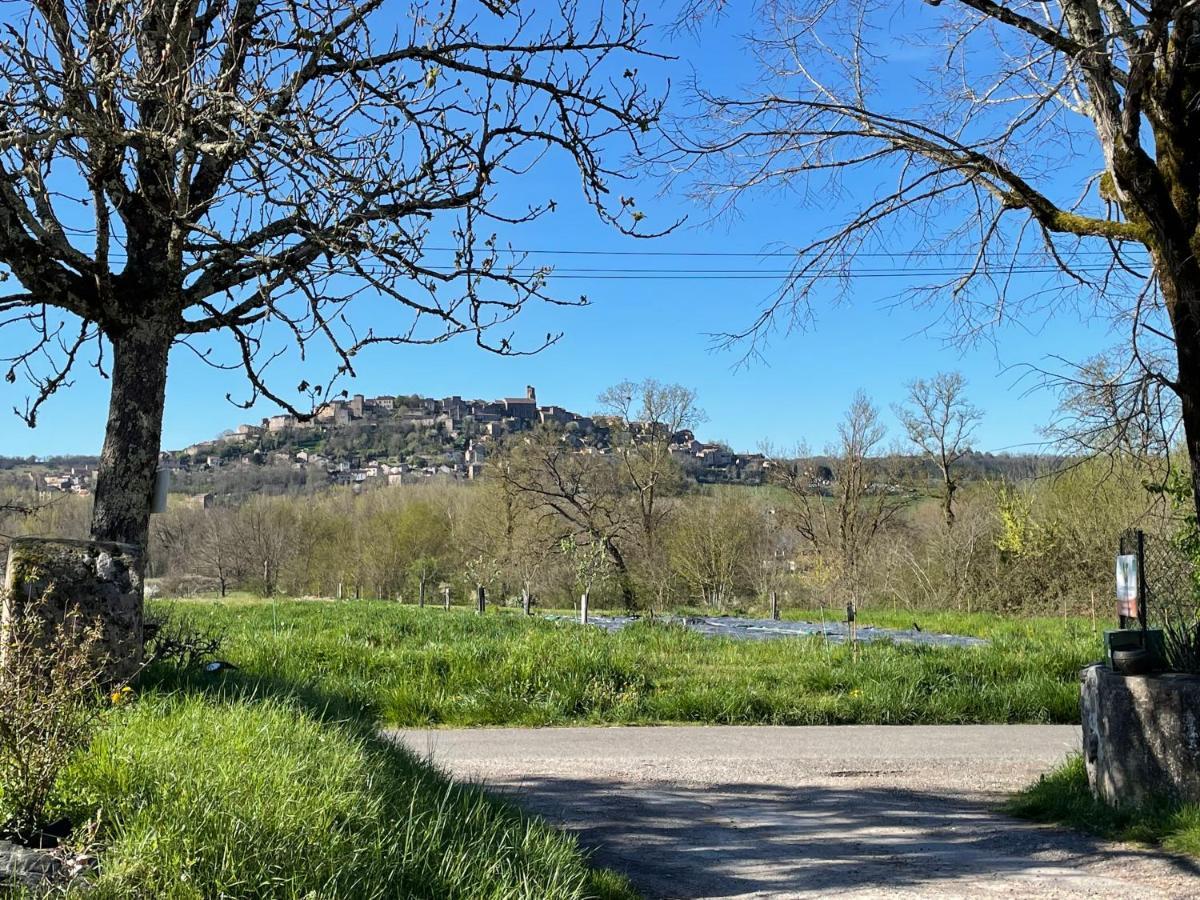
<path fill-rule="evenodd" d="M 403 731 L 650 898 L 1200 898 L 1186 859 L 996 811 L 1064 726 Z"/>

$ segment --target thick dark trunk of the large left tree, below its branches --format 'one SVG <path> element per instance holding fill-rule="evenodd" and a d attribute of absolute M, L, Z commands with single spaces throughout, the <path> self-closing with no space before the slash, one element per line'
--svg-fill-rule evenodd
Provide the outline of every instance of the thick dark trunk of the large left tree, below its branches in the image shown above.
<path fill-rule="evenodd" d="M 91 536 L 132 544 L 143 551 L 143 565 L 172 340 L 169 329 L 150 324 L 137 324 L 112 336 L 113 390 L 96 473 Z"/>

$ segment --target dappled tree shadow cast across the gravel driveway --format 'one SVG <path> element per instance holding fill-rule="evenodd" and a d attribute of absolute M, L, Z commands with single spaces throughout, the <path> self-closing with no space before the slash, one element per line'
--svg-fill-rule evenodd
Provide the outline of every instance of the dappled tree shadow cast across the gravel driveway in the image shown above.
<path fill-rule="evenodd" d="M 1190 859 L 926 791 L 554 776 L 487 784 L 575 832 L 595 863 L 624 872 L 650 898 L 919 893 L 940 882 L 972 895 L 967 886 L 982 878 L 1028 882 L 1031 894 L 1034 882 L 1060 878 L 1067 895 L 1096 895 L 1117 878 L 1108 895 L 1124 896 L 1120 882 L 1147 866 L 1172 883 L 1198 878 L 1178 895 L 1200 895 L 1200 868 Z"/>

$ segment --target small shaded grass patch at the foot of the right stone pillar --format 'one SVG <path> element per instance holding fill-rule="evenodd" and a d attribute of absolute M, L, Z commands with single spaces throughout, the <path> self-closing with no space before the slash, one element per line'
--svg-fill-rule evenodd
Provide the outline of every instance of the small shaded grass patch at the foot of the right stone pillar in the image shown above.
<path fill-rule="evenodd" d="M 1200 805 L 1162 803 L 1114 809 L 1092 797 L 1081 756 L 1013 798 L 1007 811 L 1036 822 L 1079 828 L 1111 840 L 1160 846 L 1200 856 Z"/>

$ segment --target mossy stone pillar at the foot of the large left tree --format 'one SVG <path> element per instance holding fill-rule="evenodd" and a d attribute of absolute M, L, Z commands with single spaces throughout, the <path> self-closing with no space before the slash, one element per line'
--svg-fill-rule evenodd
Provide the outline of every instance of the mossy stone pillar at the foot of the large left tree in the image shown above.
<path fill-rule="evenodd" d="M 142 665 L 142 576 L 138 550 L 127 544 L 16 538 L 8 548 L 0 607 L 0 666 L 11 622 L 30 610 L 47 623 L 78 616 L 100 622 L 98 649 L 108 659 L 109 680 L 125 682 Z"/>

